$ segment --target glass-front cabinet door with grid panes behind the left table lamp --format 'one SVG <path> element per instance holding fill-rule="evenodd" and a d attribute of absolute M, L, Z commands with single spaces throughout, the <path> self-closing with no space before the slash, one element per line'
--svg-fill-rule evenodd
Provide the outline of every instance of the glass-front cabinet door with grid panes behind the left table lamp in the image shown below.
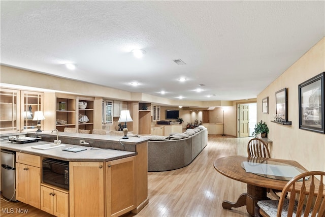
<path fill-rule="evenodd" d="M 33 120 L 33 117 L 36 111 L 42 111 L 44 114 L 44 93 L 22 90 L 20 97 L 20 132 L 36 131 L 38 121 Z M 44 126 L 43 122 L 41 120 L 42 126 Z"/>

